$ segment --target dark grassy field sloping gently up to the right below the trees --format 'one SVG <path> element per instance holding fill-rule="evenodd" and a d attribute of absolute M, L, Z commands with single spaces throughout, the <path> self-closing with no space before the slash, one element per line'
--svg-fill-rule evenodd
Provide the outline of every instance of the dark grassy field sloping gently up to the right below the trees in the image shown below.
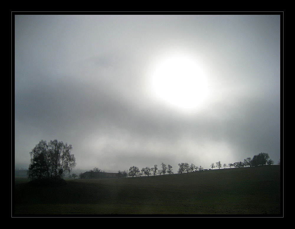
<path fill-rule="evenodd" d="M 58 187 L 33 187 L 27 182 L 26 178 L 15 178 L 15 190 L 12 190 L 14 216 L 267 214 L 275 217 L 283 213 L 279 165 L 171 176 L 72 179 Z"/>

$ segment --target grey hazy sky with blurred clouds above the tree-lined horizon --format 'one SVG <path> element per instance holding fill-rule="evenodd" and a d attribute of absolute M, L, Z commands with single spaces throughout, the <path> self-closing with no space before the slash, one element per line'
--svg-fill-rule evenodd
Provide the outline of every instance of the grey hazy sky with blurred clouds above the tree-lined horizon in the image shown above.
<path fill-rule="evenodd" d="M 16 15 L 14 33 L 16 166 L 42 139 L 80 169 L 280 159 L 280 15 Z"/>

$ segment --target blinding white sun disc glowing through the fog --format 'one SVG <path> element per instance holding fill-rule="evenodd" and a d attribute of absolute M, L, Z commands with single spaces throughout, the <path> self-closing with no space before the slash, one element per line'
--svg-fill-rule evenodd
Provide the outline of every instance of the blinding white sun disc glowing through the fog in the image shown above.
<path fill-rule="evenodd" d="M 196 61 L 174 56 L 159 63 L 153 72 L 154 93 L 181 109 L 198 107 L 208 95 L 208 83 Z"/>

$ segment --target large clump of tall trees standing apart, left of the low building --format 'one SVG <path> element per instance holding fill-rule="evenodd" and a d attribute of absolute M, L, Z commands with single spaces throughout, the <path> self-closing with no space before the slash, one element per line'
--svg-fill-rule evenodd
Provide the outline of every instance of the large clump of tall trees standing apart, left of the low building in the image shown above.
<path fill-rule="evenodd" d="M 72 145 L 58 142 L 57 139 L 46 142 L 41 140 L 30 152 L 31 161 L 28 177 L 31 180 L 43 178 L 62 178 L 63 173 L 70 173 L 76 166 Z"/>

